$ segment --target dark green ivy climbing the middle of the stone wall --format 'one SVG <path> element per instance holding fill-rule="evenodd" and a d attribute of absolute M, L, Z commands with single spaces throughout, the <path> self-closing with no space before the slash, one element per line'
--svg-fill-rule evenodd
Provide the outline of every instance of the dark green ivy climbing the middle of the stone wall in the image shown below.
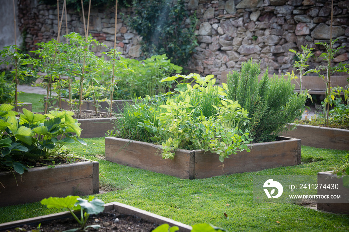
<path fill-rule="evenodd" d="M 142 36 L 144 56 L 166 54 L 172 63 L 186 65 L 198 43 L 196 15 L 185 10 L 184 0 L 134 0 L 133 9 L 126 23 Z"/>

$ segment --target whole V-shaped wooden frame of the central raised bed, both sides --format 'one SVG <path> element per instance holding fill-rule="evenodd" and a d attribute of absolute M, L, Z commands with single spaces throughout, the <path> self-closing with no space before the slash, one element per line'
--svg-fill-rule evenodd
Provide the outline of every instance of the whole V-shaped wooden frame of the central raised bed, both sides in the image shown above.
<path fill-rule="evenodd" d="M 217 154 L 205 154 L 202 150 L 177 149 L 173 160 L 162 159 L 160 145 L 115 137 L 105 138 L 105 151 L 106 160 L 111 162 L 182 179 L 202 179 L 300 164 L 301 140 L 280 138 L 253 144 L 251 152 L 238 152 L 223 163 Z"/>

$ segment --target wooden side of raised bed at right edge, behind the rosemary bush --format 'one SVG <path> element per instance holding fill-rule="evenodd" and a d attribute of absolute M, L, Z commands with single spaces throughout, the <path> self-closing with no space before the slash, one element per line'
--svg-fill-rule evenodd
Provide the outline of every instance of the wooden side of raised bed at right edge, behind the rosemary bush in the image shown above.
<path fill-rule="evenodd" d="M 281 135 L 301 139 L 304 146 L 349 150 L 349 130 L 345 129 L 299 124 L 294 130 L 283 132 Z"/>

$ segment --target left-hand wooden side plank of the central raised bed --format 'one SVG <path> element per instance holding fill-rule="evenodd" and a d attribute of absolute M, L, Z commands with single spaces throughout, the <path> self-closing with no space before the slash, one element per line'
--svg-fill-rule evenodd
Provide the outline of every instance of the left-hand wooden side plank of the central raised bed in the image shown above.
<path fill-rule="evenodd" d="M 193 151 L 178 149 L 174 159 L 163 159 L 161 146 L 128 139 L 106 137 L 106 160 L 183 179 L 194 178 Z"/>

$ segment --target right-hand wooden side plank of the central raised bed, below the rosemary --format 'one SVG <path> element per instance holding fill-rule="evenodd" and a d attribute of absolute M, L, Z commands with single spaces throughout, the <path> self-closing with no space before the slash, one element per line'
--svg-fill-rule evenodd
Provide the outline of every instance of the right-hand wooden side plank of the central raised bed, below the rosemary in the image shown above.
<path fill-rule="evenodd" d="M 300 156 L 299 139 L 253 144 L 251 152 L 232 154 L 223 163 L 217 154 L 195 150 L 195 179 L 297 165 Z"/>

